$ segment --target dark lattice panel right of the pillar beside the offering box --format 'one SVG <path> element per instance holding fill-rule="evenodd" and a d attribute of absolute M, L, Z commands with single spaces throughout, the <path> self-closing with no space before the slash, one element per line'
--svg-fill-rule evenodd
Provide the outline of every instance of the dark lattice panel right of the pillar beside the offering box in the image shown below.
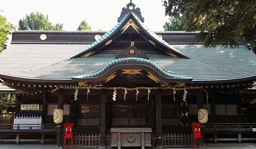
<path fill-rule="evenodd" d="M 180 105 L 163 103 L 161 105 L 162 125 L 181 125 Z"/>

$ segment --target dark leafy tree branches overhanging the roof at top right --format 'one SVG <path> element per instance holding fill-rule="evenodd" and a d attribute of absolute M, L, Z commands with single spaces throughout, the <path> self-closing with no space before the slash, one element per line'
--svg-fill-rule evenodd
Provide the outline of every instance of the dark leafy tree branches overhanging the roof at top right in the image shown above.
<path fill-rule="evenodd" d="M 205 46 L 217 44 L 238 46 L 256 45 L 256 0 L 162 0 L 165 15 L 175 17 L 186 12 L 186 31 L 201 29 L 196 36 Z"/>

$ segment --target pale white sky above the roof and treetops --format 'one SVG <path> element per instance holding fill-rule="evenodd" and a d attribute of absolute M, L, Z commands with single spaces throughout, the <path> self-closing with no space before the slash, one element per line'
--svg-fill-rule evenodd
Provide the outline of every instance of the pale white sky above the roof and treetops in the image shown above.
<path fill-rule="evenodd" d="M 86 19 L 93 31 L 109 31 L 118 22 L 122 7 L 130 0 L 1 0 L 0 15 L 14 26 L 19 26 L 20 18 L 31 12 L 48 14 L 53 25 L 63 23 L 65 31 L 76 31 L 80 22 Z M 152 31 L 163 31 L 168 20 L 162 0 L 132 0 L 141 9 L 145 24 Z"/>

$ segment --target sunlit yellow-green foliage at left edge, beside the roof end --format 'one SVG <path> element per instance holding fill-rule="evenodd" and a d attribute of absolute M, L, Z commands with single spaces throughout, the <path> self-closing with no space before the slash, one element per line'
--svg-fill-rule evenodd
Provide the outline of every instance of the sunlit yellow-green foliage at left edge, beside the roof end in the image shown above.
<path fill-rule="evenodd" d="M 8 34 L 5 29 L 13 29 L 13 24 L 7 22 L 7 19 L 0 15 L 0 50 L 2 50 L 4 43 L 6 42 L 6 36 Z"/>

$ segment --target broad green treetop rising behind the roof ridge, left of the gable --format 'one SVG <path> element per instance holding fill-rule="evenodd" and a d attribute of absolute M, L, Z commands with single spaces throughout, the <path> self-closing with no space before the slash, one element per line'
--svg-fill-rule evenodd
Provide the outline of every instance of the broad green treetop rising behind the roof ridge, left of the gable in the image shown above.
<path fill-rule="evenodd" d="M 55 26 L 52 25 L 48 20 L 48 15 L 42 13 L 30 13 L 25 18 L 19 20 L 19 30 L 61 30 L 63 24 L 57 23 Z"/>

